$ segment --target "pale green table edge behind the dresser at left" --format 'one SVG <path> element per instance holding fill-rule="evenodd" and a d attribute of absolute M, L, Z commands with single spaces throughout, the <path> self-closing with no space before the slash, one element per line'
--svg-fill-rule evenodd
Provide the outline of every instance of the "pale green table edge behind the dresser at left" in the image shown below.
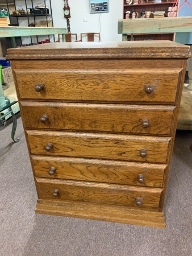
<path fill-rule="evenodd" d="M 53 35 L 66 34 L 66 28 L 56 27 L 1 27 L 0 38 L 14 36 L 34 36 L 34 35 Z"/>

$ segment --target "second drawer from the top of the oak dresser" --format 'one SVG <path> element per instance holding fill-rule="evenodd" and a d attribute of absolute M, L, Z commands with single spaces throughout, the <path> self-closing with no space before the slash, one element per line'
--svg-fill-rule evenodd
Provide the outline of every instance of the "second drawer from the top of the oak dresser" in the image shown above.
<path fill-rule="evenodd" d="M 108 131 L 113 133 L 172 133 L 175 106 L 21 102 L 26 128 Z"/>

